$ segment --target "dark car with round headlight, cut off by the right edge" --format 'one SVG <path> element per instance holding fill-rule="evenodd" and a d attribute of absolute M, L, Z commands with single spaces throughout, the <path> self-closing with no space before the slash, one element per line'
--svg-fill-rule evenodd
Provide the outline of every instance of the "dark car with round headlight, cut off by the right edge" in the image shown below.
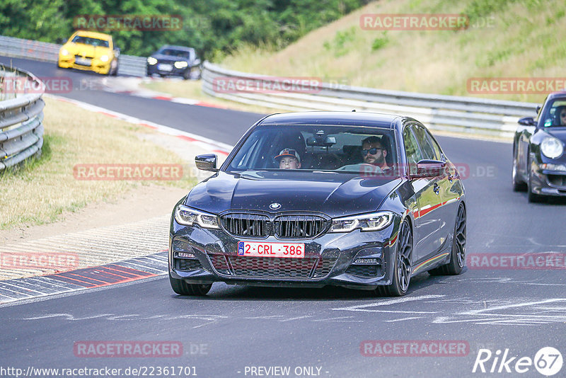
<path fill-rule="evenodd" d="M 536 119 L 519 120 L 513 140 L 513 190 L 529 202 L 566 197 L 566 91 L 550 93 Z"/>

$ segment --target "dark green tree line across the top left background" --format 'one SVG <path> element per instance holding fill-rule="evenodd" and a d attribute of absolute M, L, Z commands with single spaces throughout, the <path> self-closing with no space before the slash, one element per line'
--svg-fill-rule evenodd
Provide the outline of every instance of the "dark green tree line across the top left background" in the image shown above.
<path fill-rule="evenodd" d="M 180 15 L 180 30 L 109 30 L 128 55 L 164 44 L 195 47 L 205 58 L 241 44 L 281 48 L 369 0 L 1 0 L 0 34 L 61 42 L 80 15 Z M 105 32 L 105 30 L 100 30 Z"/>

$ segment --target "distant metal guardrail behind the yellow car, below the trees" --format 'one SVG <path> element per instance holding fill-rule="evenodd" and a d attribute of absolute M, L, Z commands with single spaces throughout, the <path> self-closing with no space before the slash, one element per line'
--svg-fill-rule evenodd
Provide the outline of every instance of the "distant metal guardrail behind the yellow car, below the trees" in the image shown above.
<path fill-rule="evenodd" d="M 57 63 L 62 45 L 0 35 L 0 55 Z M 118 57 L 118 74 L 146 76 L 146 58 L 133 55 Z"/>

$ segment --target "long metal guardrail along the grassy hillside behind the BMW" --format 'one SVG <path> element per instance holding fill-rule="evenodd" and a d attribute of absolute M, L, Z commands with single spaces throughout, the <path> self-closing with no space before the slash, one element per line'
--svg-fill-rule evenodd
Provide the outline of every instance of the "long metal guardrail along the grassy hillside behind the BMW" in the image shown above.
<path fill-rule="evenodd" d="M 242 86 L 274 88 L 282 79 L 274 76 L 248 74 L 224 69 L 204 62 L 202 90 L 211 96 L 231 101 L 260 105 L 281 110 L 367 110 L 378 113 L 397 113 L 416 118 L 432 130 L 495 134 L 509 137 L 516 130 L 520 117 L 536 115 L 536 103 L 495 101 L 483 98 L 441 96 L 401 91 L 383 91 L 356 86 L 314 84 L 301 86 L 297 91 L 260 93 L 260 91 L 219 91 L 219 81 L 241 79 Z M 251 84 L 251 85 L 249 85 Z"/>

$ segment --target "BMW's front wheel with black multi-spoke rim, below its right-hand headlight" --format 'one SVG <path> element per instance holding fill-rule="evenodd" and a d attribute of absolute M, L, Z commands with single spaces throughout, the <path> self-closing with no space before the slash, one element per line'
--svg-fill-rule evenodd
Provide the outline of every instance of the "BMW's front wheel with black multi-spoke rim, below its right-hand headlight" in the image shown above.
<path fill-rule="evenodd" d="M 378 286 L 376 294 L 388 297 L 402 297 L 407 294 L 409 289 L 412 268 L 412 231 L 407 219 L 401 224 L 398 235 L 393 282 L 391 282 L 391 285 Z"/>

